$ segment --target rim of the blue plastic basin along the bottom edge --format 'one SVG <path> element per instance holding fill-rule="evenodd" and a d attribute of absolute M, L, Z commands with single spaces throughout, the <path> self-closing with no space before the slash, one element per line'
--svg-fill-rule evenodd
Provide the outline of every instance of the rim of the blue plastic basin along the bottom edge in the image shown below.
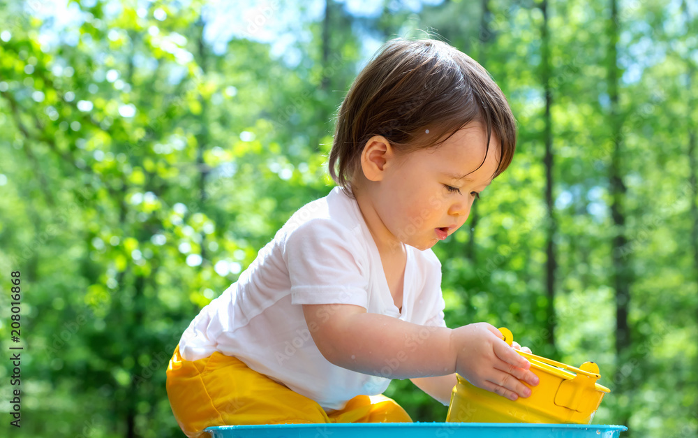
<path fill-rule="evenodd" d="M 625 426 L 523 423 L 330 423 L 218 426 L 211 438 L 615 438 Z"/>

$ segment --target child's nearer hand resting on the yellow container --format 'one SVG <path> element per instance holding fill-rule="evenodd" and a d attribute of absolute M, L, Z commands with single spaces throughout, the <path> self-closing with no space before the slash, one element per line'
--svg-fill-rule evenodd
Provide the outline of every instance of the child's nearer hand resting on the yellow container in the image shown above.
<path fill-rule="evenodd" d="M 452 348 L 456 353 L 456 372 L 479 388 L 517 400 L 530 395 L 530 388 L 521 381 L 530 386 L 538 384 L 528 360 L 507 345 L 499 330 L 488 323 L 454 329 Z"/>

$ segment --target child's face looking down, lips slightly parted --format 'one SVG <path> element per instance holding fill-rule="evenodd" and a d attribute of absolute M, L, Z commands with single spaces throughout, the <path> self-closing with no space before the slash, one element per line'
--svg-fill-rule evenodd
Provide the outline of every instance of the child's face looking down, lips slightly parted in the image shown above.
<path fill-rule="evenodd" d="M 500 145 L 494 133 L 484 159 L 486 149 L 487 132 L 473 123 L 439 147 L 396 156 L 374 187 L 376 212 L 389 234 L 427 249 L 460 228 L 497 169 Z"/>

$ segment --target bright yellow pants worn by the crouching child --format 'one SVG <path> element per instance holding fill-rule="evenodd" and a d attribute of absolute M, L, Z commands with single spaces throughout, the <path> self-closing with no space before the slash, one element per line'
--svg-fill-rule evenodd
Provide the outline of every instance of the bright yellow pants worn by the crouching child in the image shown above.
<path fill-rule="evenodd" d="M 327 414 L 317 402 L 216 351 L 184 360 L 179 345 L 167 371 L 174 418 L 187 437 L 209 426 L 284 423 L 407 423 L 412 419 L 385 395 L 358 395 L 341 411 Z"/>

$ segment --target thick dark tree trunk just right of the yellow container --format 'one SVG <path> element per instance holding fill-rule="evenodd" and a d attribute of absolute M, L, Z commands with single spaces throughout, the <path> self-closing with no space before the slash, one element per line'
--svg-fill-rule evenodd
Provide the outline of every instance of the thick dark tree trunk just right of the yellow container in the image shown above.
<path fill-rule="evenodd" d="M 623 203 L 627 188 L 623 183 L 623 133 L 622 117 L 618 102 L 618 44 L 619 23 L 617 0 L 610 0 L 611 17 L 609 20 L 609 48 L 608 48 L 608 89 L 611 101 L 611 113 L 609 122 L 611 125 L 611 167 L 609 169 L 609 185 L 611 191 L 611 217 L 614 223 L 614 237 L 612 241 L 612 254 L 614 266 L 614 287 L 616 289 L 616 370 L 620 370 L 630 354 L 630 326 L 628 326 L 628 309 L 630 307 L 630 285 L 633 275 L 630 268 L 630 254 L 623 251 L 627 247 L 628 238 L 625 230 L 625 210 Z M 621 375 L 621 374 L 618 374 Z M 617 382 L 616 391 L 623 395 L 628 389 L 628 377 L 621 376 Z M 630 420 L 628 408 L 619 412 L 620 424 L 627 425 Z"/>

